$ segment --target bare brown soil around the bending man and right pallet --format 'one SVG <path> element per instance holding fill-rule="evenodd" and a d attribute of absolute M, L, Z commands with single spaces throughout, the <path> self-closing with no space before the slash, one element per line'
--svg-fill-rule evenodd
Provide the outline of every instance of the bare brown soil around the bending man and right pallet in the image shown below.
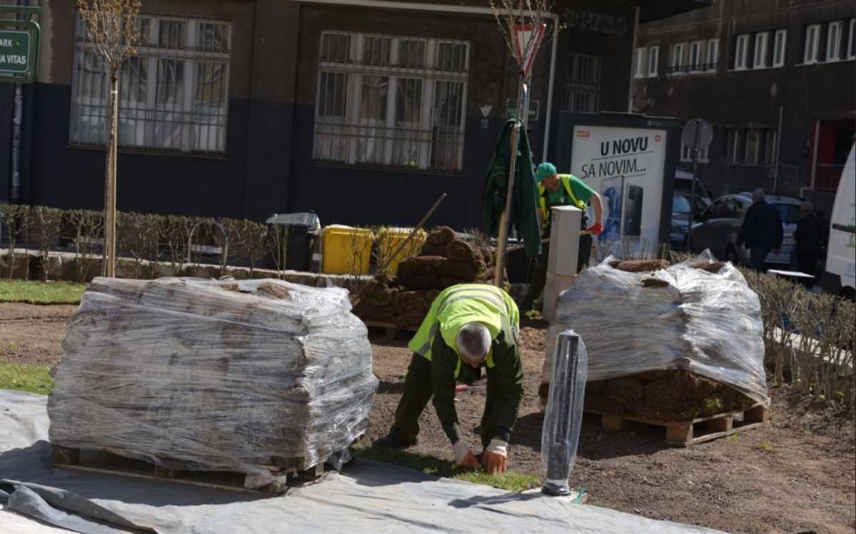
<path fill-rule="evenodd" d="M 0 361 L 52 364 L 62 359 L 64 321 L 75 306 L 0 304 Z M 541 472 L 542 417 L 538 383 L 544 361 L 544 323 L 521 332 L 526 396 L 510 447 L 514 471 Z M 391 343 L 372 332 L 380 389 L 369 440 L 386 433 L 401 395 L 411 353 L 407 337 Z M 9 344 L 13 345 L 9 345 Z M 731 532 L 838 533 L 856 530 L 856 423 L 788 391 L 771 391 L 771 422 L 737 437 L 673 448 L 664 430 L 631 424 L 601 432 L 586 416 L 571 483 L 590 504 Z M 461 427 L 479 444 L 484 381 L 456 399 Z M 449 441 L 429 405 L 414 453 L 452 459 Z"/>

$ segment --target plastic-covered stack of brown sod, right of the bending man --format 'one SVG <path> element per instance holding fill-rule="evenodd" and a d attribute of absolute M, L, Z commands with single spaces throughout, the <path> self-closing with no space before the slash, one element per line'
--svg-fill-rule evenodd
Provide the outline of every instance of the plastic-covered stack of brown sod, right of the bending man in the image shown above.
<path fill-rule="evenodd" d="M 758 296 L 707 253 L 672 266 L 609 257 L 580 273 L 559 297 L 542 391 L 569 328 L 588 351 L 588 411 L 692 423 L 769 405 Z"/>

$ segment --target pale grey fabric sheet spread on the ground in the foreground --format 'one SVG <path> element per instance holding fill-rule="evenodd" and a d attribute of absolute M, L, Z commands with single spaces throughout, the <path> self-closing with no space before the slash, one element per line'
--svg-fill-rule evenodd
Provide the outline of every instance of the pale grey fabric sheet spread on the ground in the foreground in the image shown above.
<path fill-rule="evenodd" d="M 53 518 L 67 526 L 83 521 L 94 525 L 95 517 L 111 517 L 110 523 L 77 531 L 125 532 L 133 528 L 128 525 L 136 525 L 159 534 L 716 532 L 362 459 L 319 483 L 276 497 L 52 469 L 47 427 L 45 397 L 0 390 L 0 488 L 9 488 L 15 496 L 26 486 L 27 495 L 36 495 L 30 503 L 41 505 L 30 507 L 33 514 L 38 513 L 33 517 L 42 521 Z M 0 490 L 0 504 L 2 496 Z M 3 525 L 15 525 L 11 519 L 4 523 L 8 514 L 0 510 L 0 532 L 5 532 Z M 33 531 L 38 531 L 35 526 Z"/>

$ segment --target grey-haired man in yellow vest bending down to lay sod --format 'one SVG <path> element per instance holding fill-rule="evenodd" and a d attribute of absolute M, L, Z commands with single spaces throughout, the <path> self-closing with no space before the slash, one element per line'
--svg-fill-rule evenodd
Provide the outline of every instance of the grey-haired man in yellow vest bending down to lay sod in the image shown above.
<path fill-rule="evenodd" d="M 433 397 L 437 417 L 455 451 L 455 464 L 479 467 L 461 437 L 455 411 L 455 381 L 472 384 L 487 368 L 487 399 L 481 421 L 484 471 L 508 466 L 508 440 L 523 398 L 523 367 L 517 350 L 520 312 L 508 293 L 493 285 L 461 284 L 443 290 L 408 345 L 413 351 L 404 393 L 380 447 L 409 447 L 419 435 L 419 416 Z"/>

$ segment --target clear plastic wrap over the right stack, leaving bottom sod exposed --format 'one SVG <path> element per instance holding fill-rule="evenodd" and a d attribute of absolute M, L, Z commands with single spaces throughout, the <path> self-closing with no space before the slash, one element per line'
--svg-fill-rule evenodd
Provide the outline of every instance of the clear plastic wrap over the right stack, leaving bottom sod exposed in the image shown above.
<path fill-rule="evenodd" d="M 556 335 L 573 328 L 586 340 L 589 381 L 684 369 L 768 402 L 761 305 L 739 270 L 730 263 L 717 273 L 698 268 L 713 263 L 706 251 L 645 273 L 620 271 L 612 261 L 580 273 L 559 297 L 547 357 Z M 643 286 L 646 279 L 656 281 Z M 549 369 L 548 362 L 544 381 Z"/>

